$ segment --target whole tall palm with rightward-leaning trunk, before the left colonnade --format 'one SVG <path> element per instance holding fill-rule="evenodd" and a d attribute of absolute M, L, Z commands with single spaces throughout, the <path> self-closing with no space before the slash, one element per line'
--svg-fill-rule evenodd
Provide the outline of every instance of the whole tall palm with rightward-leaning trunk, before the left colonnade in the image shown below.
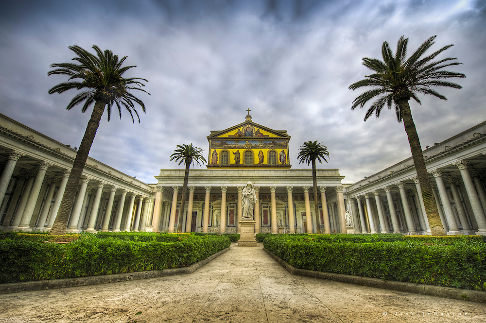
<path fill-rule="evenodd" d="M 137 119 L 140 122 L 139 114 L 135 109 L 134 102 L 140 105 L 143 112 L 145 112 L 145 105 L 137 97 L 131 94 L 129 90 L 139 90 L 150 95 L 150 93 L 141 88 L 142 86 L 145 86 L 141 81 L 148 82 L 147 80 L 134 77 L 123 77 L 123 73 L 130 68 L 135 67 L 121 66 L 125 61 L 126 56 L 119 59 L 118 55 L 114 55 L 112 51 L 101 51 L 96 45 L 93 45 L 96 55 L 76 45 L 69 46 L 69 49 L 76 54 L 76 57 L 72 59 L 73 61 L 76 61 L 76 63 L 52 64 L 51 68 L 55 69 L 47 73 L 47 75 L 69 75 L 69 80 L 68 82 L 60 83 L 52 87 L 49 90 L 49 94 L 60 94 L 70 89 L 83 90 L 74 96 L 71 102 L 69 102 L 67 109 L 70 110 L 82 102 L 84 102 L 84 104 L 81 108 L 81 112 L 85 112 L 92 103 L 94 103 L 94 107 L 85 134 L 76 153 L 76 158 L 72 165 L 56 220 L 52 225 L 51 234 L 53 235 L 66 234 L 69 213 L 71 211 L 74 196 L 78 188 L 81 174 L 83 173 L 83 168 L 86 164 L 91 144 L 96 135 L 96 130 L 100 125 L 100 119 L 104 113 L 105 106 L 108 105 L 108 121 L 110 120 L 111 108 L 116 104 L 120 113 L 120 118 L 121 107 L 124 107 L 130 113 L 132 122 L 135 122 L 133 112 L 135 112 Z"/>

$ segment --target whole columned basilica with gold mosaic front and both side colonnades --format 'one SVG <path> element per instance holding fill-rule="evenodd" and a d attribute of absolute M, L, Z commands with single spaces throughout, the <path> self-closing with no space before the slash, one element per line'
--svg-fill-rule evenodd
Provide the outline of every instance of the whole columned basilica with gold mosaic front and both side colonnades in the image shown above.
<path fill-rule="evenodd" d="M 191 169 L 179 215 L 184 170 L 163 169 L 147 184 L 88 158 L 69 232 L 239 232 L 241 192 L 255 187 L 255 232 L 430 234 L 412 158 L 343 184 L 337 169 L 292 169 L 285 130 L 252 121 L 208 135 L 206 169 Z M 424 151 L 446 232 L 486 234 L 486 122 Z M 49 230 L 76 150 L 0 114 L 0 230 Z"/>

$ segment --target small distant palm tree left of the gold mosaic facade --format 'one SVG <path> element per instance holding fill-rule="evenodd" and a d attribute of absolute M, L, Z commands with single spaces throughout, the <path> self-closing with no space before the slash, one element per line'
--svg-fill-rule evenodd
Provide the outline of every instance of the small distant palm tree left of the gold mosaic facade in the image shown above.
<path fill-rule="evenodd" d="M 206 159 L 203 157 L 203 150 L 198 147 L 190 145 L 177 145 L 176 150 L 171 155 L 171 160 L 177 162 L 180 160 L 179 165 L 183 162 L 186 164 L 186 171 L 184 172 L 184 184 L 182 186 L 182 201 L 181 206 L 179 208 L 179 219 L 177 221 L 177 232 L 182 232 L 182 217 L 184 216 L 184 207 L 186 204 L 186 194 L 187 194 L 187 183 L 189 182 L 189 166 L 196 162 L 199 166 L 201 166 L 201 161 L 206 163 Z M 189 216 L 189 215 L 188 215 Z"/>

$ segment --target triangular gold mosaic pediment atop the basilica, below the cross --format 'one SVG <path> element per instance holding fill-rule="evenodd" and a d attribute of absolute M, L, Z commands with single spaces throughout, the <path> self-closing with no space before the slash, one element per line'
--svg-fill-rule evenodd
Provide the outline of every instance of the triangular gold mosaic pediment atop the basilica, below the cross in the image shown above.
<path fill-rule="evenodd" d="M 208 139 L 216 138 L 282 138 L 290 139 L 286 130 L 273 130 L 253 121 L 245 121 L 225 130 L 211 131 Z"/>

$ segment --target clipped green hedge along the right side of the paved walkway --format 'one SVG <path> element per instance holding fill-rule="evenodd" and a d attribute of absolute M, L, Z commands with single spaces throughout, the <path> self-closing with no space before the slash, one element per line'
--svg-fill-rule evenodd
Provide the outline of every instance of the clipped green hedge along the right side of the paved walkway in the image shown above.
<path fill-rule="evenodd" d="M 437 240 L 440 242 L 440 239 Z M 486 244 L 327 243 L 301 237 L 266 238 L 263 246 L 295 268 L 411 283 L 486 289 Z"/>

